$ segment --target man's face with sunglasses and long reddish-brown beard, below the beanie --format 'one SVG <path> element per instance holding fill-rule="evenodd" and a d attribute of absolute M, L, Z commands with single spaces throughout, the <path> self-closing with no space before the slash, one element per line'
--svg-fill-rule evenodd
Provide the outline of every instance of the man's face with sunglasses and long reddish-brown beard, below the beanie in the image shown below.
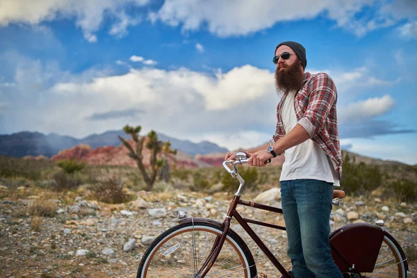
<path fill-rule="evenodd" d="M 304 77 L 301 61 L 291 47 L 281 45 L 275 51 L 275 55 L 280 55 L 285 51 L 290 53 L 290 58 L 284 60 L 280 56 L 275 71 L 275 86 L 279 93 L 284 94 L 290 90 L 300 89 Z"/>

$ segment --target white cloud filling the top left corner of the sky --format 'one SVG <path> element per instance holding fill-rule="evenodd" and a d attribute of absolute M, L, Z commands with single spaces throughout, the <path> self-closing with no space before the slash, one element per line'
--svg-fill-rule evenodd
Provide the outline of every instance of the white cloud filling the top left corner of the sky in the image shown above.
<path fill-rule="evenodd" d="M 111 35 L 126 34 L 129 25 L 138 24 L 140 19 L 126 16 L 126 7 L 145 6 L 149 0 L 2 0 L 0 1 L 0 26 L 13 23 L 37 25 L 55 19 L 75 17 L 76 26 L 84 33 L 85 40 L 97 42 L 97 35 L 105 16 L 116 19 L 111 26 Z"/>

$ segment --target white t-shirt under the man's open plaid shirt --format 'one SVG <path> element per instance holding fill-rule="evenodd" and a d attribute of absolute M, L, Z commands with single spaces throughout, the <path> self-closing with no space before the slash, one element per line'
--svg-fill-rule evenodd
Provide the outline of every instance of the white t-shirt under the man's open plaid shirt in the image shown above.
<path fill-rule="evenodd" d="M 295 91 L 289 92 L 281 106 L 281 119 L 286 133 L 297 124 L 294 96 Z M 332 161 L 313 140 L 308 139 L 300 145 L 286 149 L 284 155 L 285 161 L 279 181 L 317 179 L 334 183 L 334 186 L 340 186 L 338 174 L 334 170 Z"/>

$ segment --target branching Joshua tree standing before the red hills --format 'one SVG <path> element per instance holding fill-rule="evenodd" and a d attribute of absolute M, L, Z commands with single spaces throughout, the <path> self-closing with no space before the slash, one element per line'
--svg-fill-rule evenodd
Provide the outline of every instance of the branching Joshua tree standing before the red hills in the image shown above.
<path fill-rule="evenodd" d="M 140 172 L 142 173 L 143 179 L 145 180 L 145 183 L 147 185 L 147 190 L 152 190 L 152 187 L 154 186 L 154 183 L 156 181 L 156 176 L 160 170 L 163 170 L 163 175 L 167 175 L 169 177 L 169 167 L 167 164 L 167 161 L 165 159 L 165 154 L 177 154 L 177 150 L 173 150 L 171 148 L 171 142 L 162 142 L 158 140 L 158 135 L 155 131 L 150 131 L 147 136 L 142 136 L 139 138 L 140 129 L 142 129 L 142 126 L 129 126 L 126 125 L 123 128 L 123 131 L 130 135 L 133 139 L 133 141 L 136 142 L 136 149 L 133 149 L 133 147 L 129 144 L 127 140 L 124 140 L 124 138 L 117 136 L 120 141 L 122 141 L 124 147 L 129 149 L 129 156 L 136 160 L 136 164 L 138 165 L 138 168 Z M 145 166 L 143 165 L 142 159 L 142 149 L 145 145 L 146 141 L 146 147 L 151 151 L 151 156 L 149 158 L 149 164 L 151 173 L 150 176 L 145 170 Z M 164 154 L 163 158 L 157 159 L 156 156 L 158 153 Z"/>

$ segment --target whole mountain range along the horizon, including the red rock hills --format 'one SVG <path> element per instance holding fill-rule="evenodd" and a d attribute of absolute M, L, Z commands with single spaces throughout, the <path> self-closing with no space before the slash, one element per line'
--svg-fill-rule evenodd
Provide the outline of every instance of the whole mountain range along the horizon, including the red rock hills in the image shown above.
<path fill-rule="evenodd" d="M 13 156 L 22 158 L 24 156 L 47 156 L 51 158 L 58 153 L 62 153 L 63 150 L 72 149 L 81 145 L 81 149 L 85 149 L 82 145 L 88 145 L 89 148 L 97 149 L 95 152 L 104 152 L 101 147 L 119 147 L 121 145 L 117 136 L 122 138 L 131 139 L 126 135 L 124 131 L 106 131 L 101 134 L 92 134 L 85 138 L 76 139 L 71 136 L 60 136 L 56 133 L 49 133 L 47 135 L 40 132 L 21 131 L 10 135 L 0 135 L 0 155 Z M 186 161 L 185 163 L 191 163 L 197 165 L 198 163 L 206 163 L 207 165 L 221 165 L 224 154 L 229 152 L 228 149 L 220 147 L 215 143 L 202 141 L 199 143 L 191 142 L 190 140 L 179 140 L 166 136 L 162 133 L 158 133 L 159 140 L 170 141 L 172 147 L 177 149 L 181 155 L 179 159 Z M 107 149 L 109 151 L 109 149 Z M 95 153 L 93 152 L 93 153 Z M 69 154 L 70 154 L 69 153 Z M 369 158 L 367 156 L 361 156 L 352 152 L 347 152 L 351 158 L 359 162 L 366 164 L 377 165 L 404 165 L 398 161 L 384 161 L 377 158 Z M 68 155 L 68 154 L 65 154 Z M 73 154 L 70 154 L 72 156 Z M 101 154 L 103 155 L 103 154 Z M 191 161 L 195 158 L 195 161 Z M 113 158 L 112 158 L 113 159 Z M 190 162 L 191 161 L 191 162 Z M 275 158 L 272 164 L 281 165 L 284 162 L 284 156 Z"/>

